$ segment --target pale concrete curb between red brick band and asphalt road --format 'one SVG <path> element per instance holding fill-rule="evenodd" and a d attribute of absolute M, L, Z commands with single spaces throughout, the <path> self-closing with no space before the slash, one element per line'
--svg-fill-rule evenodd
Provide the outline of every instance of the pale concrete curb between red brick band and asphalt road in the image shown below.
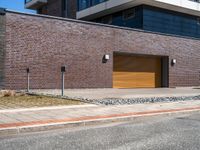
<path fill-rule="evenodd" d="M 68 121 L 68 122 L 55 121 L 48 124 L 35 124 L 35 125 L 27 125 L 27 126 L 0 128 L 0 135 L 7 136 L 7 135 L 13 135 L 13 134 L 15 135 L 15 134 L 20 134 L 20 133 L 48 131 L 48 130 L 55 130 L 55 129 L 62 129 L 62 128 L 100 125 L 100 124 L 107 124 L 107 123 L 113 123 L 113 122 L 126 122 L 126 121 L 133 121 L 141 117 L 144 118 L 144 117 L 156 116 L 156 115 L 168 116 L 172 114 L 175 115 L 179 113 L 184 114 L 184 113 L 199 112 L 199 111 L 200 111 L 200 107 L 196 107 L 196 108 L 171 109 L 171 110 L 160 110 L 160 111 L 151 111 L 151 112 L 138 112 L 138 113 L 135 113 L 135 115 L 134 113 L 116 114 L 116 115 L 114 114 L 114 115 L 110 115 L 110 117 L 109 116 L 96 117 L 96 119 L 94 119 L 95 118 L 94 116 L 94 117 L 91 117 L 92 119 L 85 119 L 85 120 L 77 119 L 78 121 Z"/>

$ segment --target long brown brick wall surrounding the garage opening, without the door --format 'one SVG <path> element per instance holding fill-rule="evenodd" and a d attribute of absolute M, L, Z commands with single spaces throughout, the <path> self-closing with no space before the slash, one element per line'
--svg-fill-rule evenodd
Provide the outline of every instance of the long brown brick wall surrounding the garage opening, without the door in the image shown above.
<path fill-rule="evenodd" d="M 169 85 L 200 85 L 200 40 L 110 28 L 63 19 L 7 13 L 6 88 L 60 88 L 60 67 L 67 65 L 66 88 L 112 87 L 113 52 L 169 56 Z M 102 63 L 105 54 L 111 59 Z"/>

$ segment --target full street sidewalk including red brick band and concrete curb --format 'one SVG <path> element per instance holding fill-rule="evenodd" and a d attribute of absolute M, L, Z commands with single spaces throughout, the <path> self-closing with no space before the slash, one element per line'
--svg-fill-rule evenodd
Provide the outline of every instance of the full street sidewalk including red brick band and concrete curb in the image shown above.
<path fill-rule="evenodd" d="M 0 111 L 0 135 L 85 126 L 175 112 L 200 111 L 200 100 L 118 106 L 63 106 Z"/>

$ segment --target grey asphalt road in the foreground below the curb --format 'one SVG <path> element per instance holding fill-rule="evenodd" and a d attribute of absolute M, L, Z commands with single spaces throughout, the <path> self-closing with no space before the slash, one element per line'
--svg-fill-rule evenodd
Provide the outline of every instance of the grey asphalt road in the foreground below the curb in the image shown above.
<path fill-rule="evenodd" d="M 0 137 L 0 150 L 200 150 L 200 112 Z"/>

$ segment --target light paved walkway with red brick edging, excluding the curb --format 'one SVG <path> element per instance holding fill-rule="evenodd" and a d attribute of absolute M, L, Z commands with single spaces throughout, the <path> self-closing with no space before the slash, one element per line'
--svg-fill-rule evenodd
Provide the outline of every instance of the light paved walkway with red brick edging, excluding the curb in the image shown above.
<path fill-rule="evenodd" d="M 170 112 L 174 110 L 193 109 L 200 110 L 200 100 L 118 106 L 82 105 L 46 107 L 41 109 L 1 110 L 0 130 L 8 127 L 95 120 L 148 114 L 152 112 Z"/>

